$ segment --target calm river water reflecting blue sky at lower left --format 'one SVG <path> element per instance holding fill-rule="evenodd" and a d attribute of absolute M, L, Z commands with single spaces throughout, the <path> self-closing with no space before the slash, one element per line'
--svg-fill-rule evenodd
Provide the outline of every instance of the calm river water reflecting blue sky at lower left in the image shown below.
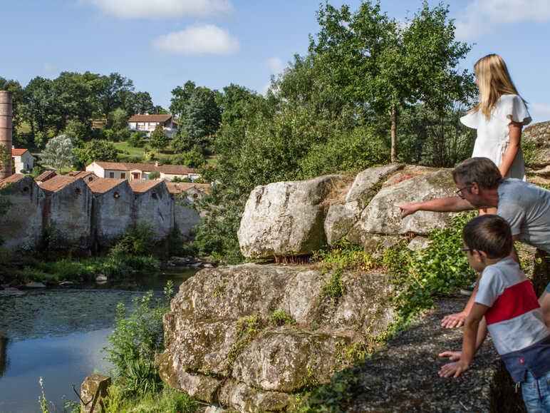
<path fill-rule="evenodd" d="M 108 374 L 101 352 L 113 332 L 116 306 L 153 290 L 162 295 L 167 280 L 175 288 L 196 270 L 138 275 L 132 282 L 74 289 L 26 290 L 0 295 L 0 413 L 41 412 L 38 380 L 55 410 L 78 401 L 88 374 Z M 51 406 L 50 406 L 51 407 Z"/>

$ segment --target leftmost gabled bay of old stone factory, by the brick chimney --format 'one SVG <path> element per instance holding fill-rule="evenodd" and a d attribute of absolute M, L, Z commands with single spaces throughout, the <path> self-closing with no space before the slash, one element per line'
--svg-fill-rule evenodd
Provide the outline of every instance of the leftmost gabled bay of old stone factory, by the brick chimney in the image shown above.
<path fill-rule="evenodd" d="M 2 197 L 11 203 L 7 213 L 0 216 L 2 248 L 37 248 L 43 232 L 43 191 L 30 176 L 21 173 L 2 180 L 0 190 L 3 190 Z"/>

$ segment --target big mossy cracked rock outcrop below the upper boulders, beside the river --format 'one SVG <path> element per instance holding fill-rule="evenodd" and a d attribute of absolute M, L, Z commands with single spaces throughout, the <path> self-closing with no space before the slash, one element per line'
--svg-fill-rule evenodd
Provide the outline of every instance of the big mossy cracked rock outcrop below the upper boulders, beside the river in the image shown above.
<path fill-rule="evenodd" d="M 283 409 L 330 381 L 394 317 L 387 275 L 344 274 L 341 295 L 334 276 L 311 265 L 201 270 L 164 317 L 162 380 L 239 412 Z"/>

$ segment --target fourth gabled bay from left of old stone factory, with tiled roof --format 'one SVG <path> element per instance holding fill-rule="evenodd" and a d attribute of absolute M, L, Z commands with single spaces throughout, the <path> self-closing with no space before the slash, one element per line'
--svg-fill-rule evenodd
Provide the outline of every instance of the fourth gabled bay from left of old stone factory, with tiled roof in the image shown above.
<path fill-rule="evenodd" d="M 174 224 L 174 201 L 164 180 L 130 180 L 134 193 L 132 219 L 146 223 L 155 232 L 155 240 L 167 237 Z"/>

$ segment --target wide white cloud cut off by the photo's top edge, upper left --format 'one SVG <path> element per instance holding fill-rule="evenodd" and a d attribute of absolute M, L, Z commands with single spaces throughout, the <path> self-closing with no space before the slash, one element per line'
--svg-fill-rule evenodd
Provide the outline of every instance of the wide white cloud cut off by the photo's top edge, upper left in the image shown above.
<path fill-rule="evenodd" d="M 165 19 L 229 14 L 229 0 L 80 0 L 121 19 Z"/>

